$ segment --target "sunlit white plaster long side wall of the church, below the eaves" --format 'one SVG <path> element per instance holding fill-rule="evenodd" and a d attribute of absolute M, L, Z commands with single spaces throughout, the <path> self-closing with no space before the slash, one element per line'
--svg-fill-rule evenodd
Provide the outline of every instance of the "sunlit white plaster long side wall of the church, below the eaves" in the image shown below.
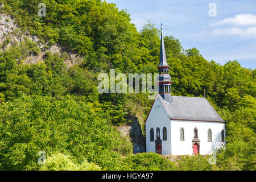
<path fill-rule="evenodd" d="M 180 128 L 184 129 L 184 141 L 180 140 Z M 195 127 L 198 130 L 200 140 L 200 154 L 212 154 L 216 148 L 221 148 L 221 131 L 225 133 L 225 123 L 202 121 L 171 121 L 171 154 L 192 155 L 192 140 Z M 208 142 L 208 129 L 212 130 L 212 142 Z"/>

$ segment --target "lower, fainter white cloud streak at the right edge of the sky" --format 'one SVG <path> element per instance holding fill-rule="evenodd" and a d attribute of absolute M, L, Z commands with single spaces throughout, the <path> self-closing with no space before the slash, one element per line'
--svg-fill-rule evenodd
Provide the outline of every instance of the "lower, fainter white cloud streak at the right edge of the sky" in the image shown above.
<path fill-rule="evenodd" d="M 240 35 L 243 38 L 256 38 L 256 27 L 249 27 L 249 28 L 216 28 L 212 31 L 214 35 Z"/>

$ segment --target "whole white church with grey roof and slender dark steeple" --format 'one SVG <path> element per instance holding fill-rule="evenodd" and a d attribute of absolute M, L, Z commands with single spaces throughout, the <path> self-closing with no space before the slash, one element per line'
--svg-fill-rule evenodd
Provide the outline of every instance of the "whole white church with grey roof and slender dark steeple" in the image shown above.
<path fill-rule="evenodd" d="M 171 95 L 161 27 L 159 94 L 146 119 L 146 152 L 163 155 L 213 154 L 225 145 L 225 121 L 204 97 Z"/>

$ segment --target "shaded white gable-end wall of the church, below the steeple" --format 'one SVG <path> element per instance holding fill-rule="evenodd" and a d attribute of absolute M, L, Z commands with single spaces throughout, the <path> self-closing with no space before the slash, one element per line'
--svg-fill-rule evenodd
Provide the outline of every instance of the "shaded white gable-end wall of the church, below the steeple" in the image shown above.
<path fill-rule="evenodd" d="M 155 152 L 156 129 L 160 129 L 162 139 L 162 154 L 171 154 L 171 122 L 158 97 L 146 121 L 146 152 Z M 163 141 L 163 127 L 167 129 L 167 140 Z M 150 129 L 154 129 L 154 142 L 150 142 Z"/>

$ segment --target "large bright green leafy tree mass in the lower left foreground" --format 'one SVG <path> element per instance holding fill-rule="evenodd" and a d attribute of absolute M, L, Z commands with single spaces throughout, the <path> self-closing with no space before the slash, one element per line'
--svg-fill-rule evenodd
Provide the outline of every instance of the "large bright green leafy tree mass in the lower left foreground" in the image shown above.
<path fill-rule="evenodd" d="M 1 169 L 35 170 L 38 152 L 61 152 L 81 163 L 118 169 L 122 144 L 118 131 L 106 121 L 100 104 L 76 102 L 71 97 L 22 96 L 0 107 Z"/>

